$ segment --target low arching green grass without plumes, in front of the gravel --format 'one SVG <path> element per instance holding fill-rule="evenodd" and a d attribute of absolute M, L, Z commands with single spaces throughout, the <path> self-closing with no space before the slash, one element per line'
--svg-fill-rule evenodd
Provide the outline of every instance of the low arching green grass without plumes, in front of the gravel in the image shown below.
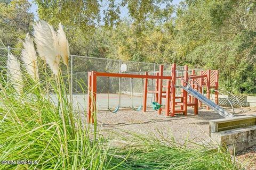
<path fill-rule="evenodd" d="M 161 134 L 161 132 L 159 132 Z M 183 145 L 173 138 L 162 139 L 132 134 L 127 141 L 132 141 L 124 149 L 115 152 L 127 155 L 126 164 L 131 169 L 239 169 L 225 148 L 212 148 L 186 141 Z"/>

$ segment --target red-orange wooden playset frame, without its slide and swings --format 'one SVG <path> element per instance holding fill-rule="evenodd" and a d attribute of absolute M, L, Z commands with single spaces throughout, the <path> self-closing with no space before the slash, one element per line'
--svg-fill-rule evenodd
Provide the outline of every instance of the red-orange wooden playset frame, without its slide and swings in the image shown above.
<path fill-rule="evenodd" d="M 192 71 L 191 75 L 188 76 L 188 65 L 184 66 L 185 73 L 182 77 L 176 77 L 176 64 L 172 64 L 172 71 L 170 76 L 163 75 L 164 66 L 159 66 L 159 72 L 156 75 L 148 75 L 145 72 L 144 75 L 138 74 L 120 74 L 120 73 L 105 73 L 105 72 L 88 72 L 88 100 L 87 100 L 87 121 L 89 123 L 94 122 L 93 113 L 96 111 L 96 95 L 97 95 L 97 77 L 116 77 L 116 78 L 138 78 L 145 79 L 144 88 L 143 88 L 143 112 L 146 112 L 147 105 L 147 94 L 148 92 L 155 93 L 156 101 L 158 104 L 162 104 L 162 98 L 166 98 L 165 100 L 165 115 L 166 116 L 174 116 L 175 113 L 183 113 L 183 115 L 187 115 L 187 107 L 194 107 L 194 113 L 198 114 L 198 105 L 202 107 L 202 103 L 198 103 L 198 99 L 189 95 L 187 91 L 181 89 L 181 96 L 175 96 L 175 91 L 177 88 L 176 79 L 181 79 L 181 83 L 183 86 L 186 86 L 187 83 L 190 83 L 191 86 L 198 90 L 199 92 L 203 92 L 202 87 L 206 87 L 206 97 L 210 99 L 210 88 L 218 89 L 219 85 L 219 72 L 218 70 L 207 70 L 201 71 L 200 75 L 196 75 L 195 71 Z M 212 77 L 212 73 L 214 77 Z M 148 91 L 148 79 L 155 79 L 156 86 L 154 91 Z M 206 79 L 206 80 L 205 80 Z M 166 81 L 166 86 L 163 86 L 163 80 Z M 190 82 L 189 82 L 190 80 Z M 193 80 L 193 81 L 191 81 Z M 211 82 L 214 80 L 214 82 Z M 195 83 L 198 81 L 198 83 Z M 212 83 L 212 84 L 211 84 Z M 212 85 L 212 86 L 211 86 Z M 163 87 L 166 88 L 166 91 L 163 91 Z M 165 94 L 165 95 L 163 95 Z M 180 99 L 180 101 L 176 101 L 176 99 Z M 215 91 L 215 103 L 218 104 L 218 92 Z M 176 106 L 180 106 L 180 109 L 176 109 Z M 209 107 L 206 107 L 210 109 Z M 162 108 L 158 110 L 158 114 L 162 114 Z"/>

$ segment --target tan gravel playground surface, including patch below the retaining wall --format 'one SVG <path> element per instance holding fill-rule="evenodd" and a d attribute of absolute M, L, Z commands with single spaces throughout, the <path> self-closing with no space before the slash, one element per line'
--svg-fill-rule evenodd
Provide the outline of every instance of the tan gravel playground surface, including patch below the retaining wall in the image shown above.
<path fill-rule="evenodd" d="M 231 113 L 230 109 L 226 109 Z M 235 109 L 235 112 L 236 116 L 256 115 L 256 107 L 244 107 L 244 113 L 240 113 L 240 109 Z M 98 126 L 101 134 L 113 137 L 116 141 L 119 139 L 115 132 L 129 137 L 128 131 L 137 134 L 151 133 L 167 139 L 173 136 L 179 143 L 187 139 L 194 142 L 210 142 L 209 121 L 218 118 L 223 117 L 206 109 L 199 109 L 198 115 L 194 115 L 193 108 L 188 109 L 187 116 L 177 114 L 175 117 L 165 117 L 164 112 L 158 115 L 154 111 L 146 113 L 132 110 L 122 110 L 117 113 L 100 111 Z M 244 165 L 245 170 L 256 169 L 256 145 L 239 152 L 236 159 Z"/>

